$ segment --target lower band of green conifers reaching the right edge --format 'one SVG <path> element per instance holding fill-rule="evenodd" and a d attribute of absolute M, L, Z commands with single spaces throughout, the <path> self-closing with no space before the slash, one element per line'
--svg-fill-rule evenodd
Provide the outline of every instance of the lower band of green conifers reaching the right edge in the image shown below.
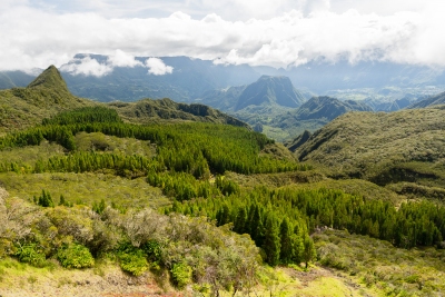
<path fill-rule="evenodd" d="M 332 189 L 258 187 L 224 199 L 175 201 L 165 211 L 207 216 L 218 226 L 231 224 L 234 231 L 250 235 L 270 265 L 310 259 L 308 237 L 325 226 L 402 248 L 434 246 L 445 237 L 445 207 L 423 201 L 404 202 L 396 209 L 389 201 L 366 200 Z"/>

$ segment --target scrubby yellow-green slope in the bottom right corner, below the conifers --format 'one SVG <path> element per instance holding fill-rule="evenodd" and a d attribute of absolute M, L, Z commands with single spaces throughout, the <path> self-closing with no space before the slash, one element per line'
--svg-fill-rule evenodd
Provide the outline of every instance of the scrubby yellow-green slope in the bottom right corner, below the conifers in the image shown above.
<path fill-rule="evenodd" d="M 389 242 L 345 231 L 314 235 L 319 263 L 358 280 L 377 296 L 443 296 L 445 251 L 394 248 Z"/>

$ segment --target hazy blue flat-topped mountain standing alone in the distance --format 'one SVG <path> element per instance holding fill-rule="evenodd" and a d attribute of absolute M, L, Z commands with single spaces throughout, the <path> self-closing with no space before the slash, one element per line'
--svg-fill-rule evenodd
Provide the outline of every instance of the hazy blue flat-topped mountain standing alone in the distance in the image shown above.
<path fill-rule="evenodd" d="M 294 88 L 289 78 L 263 76 L 244 89 L 235 110 L 238 111 L 248 106 L 261 105 L 296 108 L 304 101 L 305 98 Z"/>

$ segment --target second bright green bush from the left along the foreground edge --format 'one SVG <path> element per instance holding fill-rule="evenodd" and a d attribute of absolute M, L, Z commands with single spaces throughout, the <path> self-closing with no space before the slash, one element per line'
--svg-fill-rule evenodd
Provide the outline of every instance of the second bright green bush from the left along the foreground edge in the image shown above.
<path fill-rule="evenodd" d="M 87 268 L 95 265 L 95 258 L 89 249 L 78 244 L 60 249 L 57 258 L 65 268 Z"/>

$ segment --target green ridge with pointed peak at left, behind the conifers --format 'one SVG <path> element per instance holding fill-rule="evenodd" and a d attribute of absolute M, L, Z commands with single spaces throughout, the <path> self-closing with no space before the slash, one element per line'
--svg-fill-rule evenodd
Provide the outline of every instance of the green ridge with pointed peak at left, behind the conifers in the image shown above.
<path fill-rule="evenodd" d="M 0 91 L 0 132 L 22 129 L 41 123 L 60 111 L 87 106 L 103 106 L 89 99 L 73 96 L 67 88 L 59 70 L 50 66 L 26 88 Z M 145 99 L 137 102 L 107 105 L 130 122 L 161 120 L 202 121 L 246 127 L 248 125 L 210 107 L 199 103 L 176 103 L 170 99 Z"/>

